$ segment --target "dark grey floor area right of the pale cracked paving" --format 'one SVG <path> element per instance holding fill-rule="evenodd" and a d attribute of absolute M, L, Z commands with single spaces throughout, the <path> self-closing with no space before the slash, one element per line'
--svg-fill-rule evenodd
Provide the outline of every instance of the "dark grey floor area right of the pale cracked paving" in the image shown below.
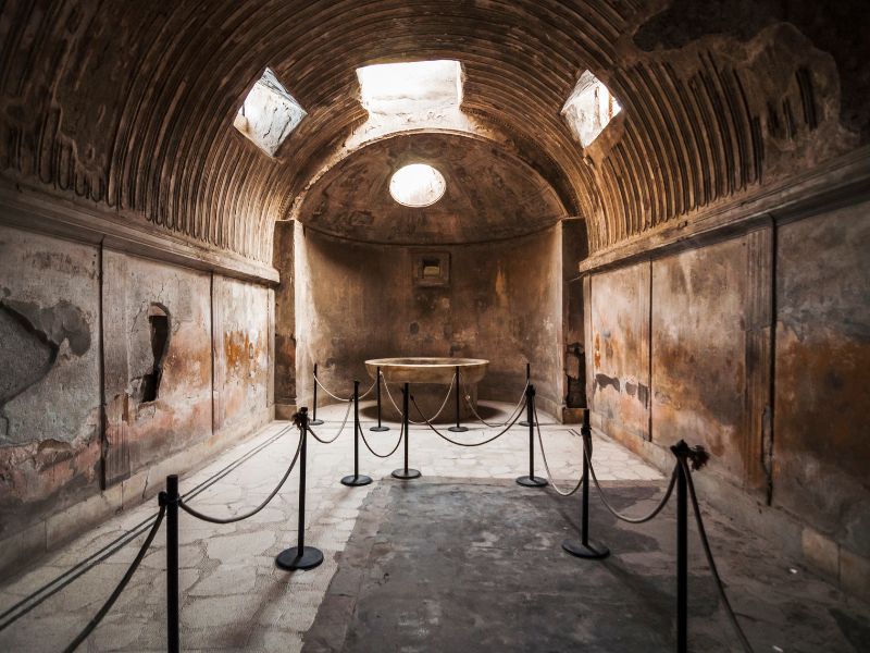
<path fill-rule="evenodd" d="M 617 509 L 635 515 L 662 489 L 606 486 Z M 561 550 L 575 537 L 579 495 L 500 481 L 382 483 L 340 555 L 303 651 L 673 651 L 675 502 L 634 526 L 591 500 L 594 535 L 613 551 L 602 562 Z M 858 651 L 868 641 L 863 606 L 838 603 L 818 579 L 795 583 L 770 555 L 751 551 L 763 542 L 708 521 L 756 651 Z M 694 533 L 689 550 L 689 649 L 739 650 Z"/>

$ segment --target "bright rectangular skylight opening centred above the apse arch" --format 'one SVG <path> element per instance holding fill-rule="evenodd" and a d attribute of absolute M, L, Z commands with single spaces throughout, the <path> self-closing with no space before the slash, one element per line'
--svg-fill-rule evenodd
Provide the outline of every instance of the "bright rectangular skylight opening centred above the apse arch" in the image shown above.
<path fill-rule="evenodd" d="M 462 66 L 453 60 L 366 65 L 357 69 L 357 78 L 370 114 L 424 113 L 462 102 Z"/>

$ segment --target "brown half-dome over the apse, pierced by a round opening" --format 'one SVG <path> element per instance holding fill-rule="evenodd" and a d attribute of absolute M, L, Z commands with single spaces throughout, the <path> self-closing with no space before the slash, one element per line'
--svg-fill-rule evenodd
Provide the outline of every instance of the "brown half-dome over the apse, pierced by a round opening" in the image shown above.
<path fill-rule="evenodd" d="M 446 182 L 431 206 L 402 206 L 390 196 L 393 174 L 426 163 Z M 490 140 L 460 134 L 397 134 L 356 150 L 306 195 L 298 220 L 307 227 L 389 245 L 456 245 L 512 238 L 567 217 L 546 180 Z"/>

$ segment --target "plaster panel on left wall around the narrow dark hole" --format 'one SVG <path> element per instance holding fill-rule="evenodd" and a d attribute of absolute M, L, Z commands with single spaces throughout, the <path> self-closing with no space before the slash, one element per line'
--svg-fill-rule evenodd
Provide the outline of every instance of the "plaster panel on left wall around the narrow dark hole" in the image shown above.
<path fill-rule="evenodd" d="M 211 434 L 210 276 L 107 250 L 107 484 Z M 163 374 L 154 401 L 149 311 L 169 318 Z"/>

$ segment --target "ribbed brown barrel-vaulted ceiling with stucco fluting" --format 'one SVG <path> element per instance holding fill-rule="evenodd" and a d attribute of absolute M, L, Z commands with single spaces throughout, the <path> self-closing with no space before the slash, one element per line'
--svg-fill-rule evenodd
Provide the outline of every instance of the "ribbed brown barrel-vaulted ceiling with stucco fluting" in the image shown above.
<path fill-rule="evenodd" d="M 7 0 L 0 168 L 270 262 L 274 221 L 353 156 L 355 70 L 456 59 L 476 137 L 602 251 L 863 144 L 866 48 L 834 27 L 852 12 L 863 20 L 857 2 L 788 0 Z M 308 112 L 274 159 L 233 128 L 265 66 Z M 583 148 L 560 110 L 586 70 L 623 110 Z"/>

